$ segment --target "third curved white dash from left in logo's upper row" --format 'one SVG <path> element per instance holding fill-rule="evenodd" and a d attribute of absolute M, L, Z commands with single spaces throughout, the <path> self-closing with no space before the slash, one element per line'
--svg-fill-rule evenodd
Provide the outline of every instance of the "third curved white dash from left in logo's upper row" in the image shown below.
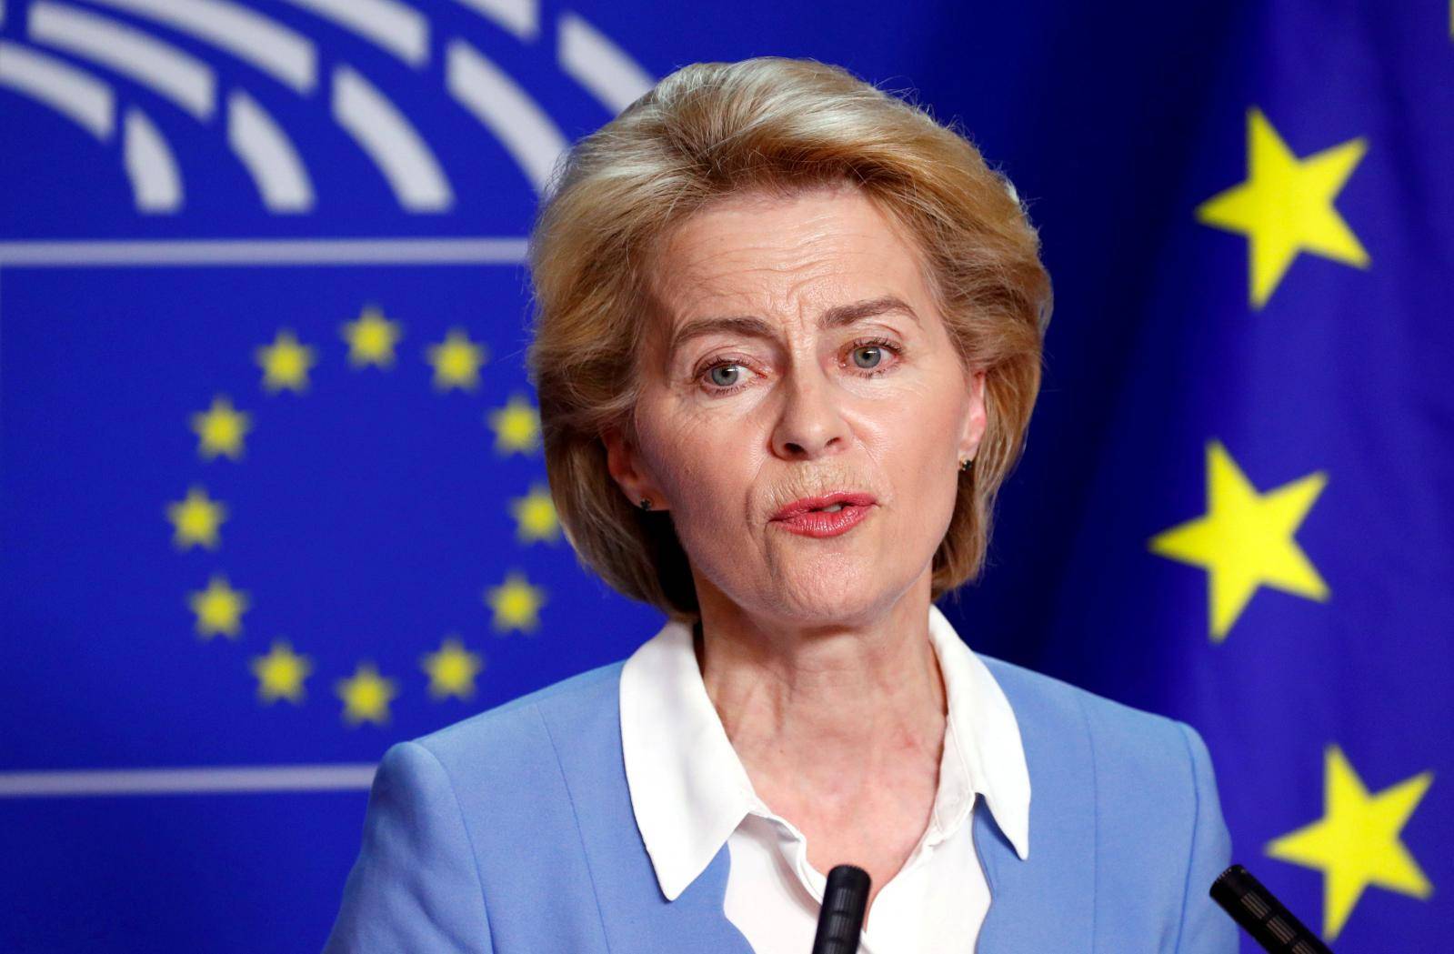
<path fill-rule="evenodd" d="M 220 47 L 300 93 L 317 86 L 318 51 L 282 23 L 227 0 L 90 0 Z"/>

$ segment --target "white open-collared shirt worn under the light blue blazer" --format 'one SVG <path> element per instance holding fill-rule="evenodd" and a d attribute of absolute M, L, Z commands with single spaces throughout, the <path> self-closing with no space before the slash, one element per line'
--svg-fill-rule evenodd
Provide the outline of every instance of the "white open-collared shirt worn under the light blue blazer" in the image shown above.
<path fill-rule="evenodd" d="M 859 938 L 864 954 L 971 951 L 989 910 L 974 852 L 976 794 L 1021 858 L 1029 857 L 1029 772 L 1009 700 L 989 668 L 929 606 L 948 718 L 929 826 L 883 886 Z M 692 630 L 667 622 L 621 670 L 621 747 L 631 809 L 667 900 L 727 843 L 723 909 L 758 954 L 807 954 L 824 873 L 807 839 L 753 791 L 707 686 Z"/>

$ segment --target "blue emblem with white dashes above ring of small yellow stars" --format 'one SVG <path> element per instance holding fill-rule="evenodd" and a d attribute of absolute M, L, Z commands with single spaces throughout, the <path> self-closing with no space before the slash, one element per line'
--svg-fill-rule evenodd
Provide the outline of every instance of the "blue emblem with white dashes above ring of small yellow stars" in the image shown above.
<path fill-rule="evenodd" d="M 522 259 L 651 81 L 534 0 L 0 6 L 4 654 L 67 727 L 7 730 L 9 790 L 365 787 L 628 652 L 538 638 L 622 611 L 551 505 Z"/>

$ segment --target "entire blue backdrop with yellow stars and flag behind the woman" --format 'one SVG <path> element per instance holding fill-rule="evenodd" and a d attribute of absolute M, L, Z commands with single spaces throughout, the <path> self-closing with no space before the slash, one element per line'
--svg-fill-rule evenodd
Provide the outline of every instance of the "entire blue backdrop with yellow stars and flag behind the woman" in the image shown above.
<path fill-rule="evenodd" d="M 544 496 L 522 240 L 653 77 L 782 54 L 917 89 L 1041 227 L 961 633 L 1191 721 L 1336 950 L 1438 950 L 1451 19 L 3 0 L 0 948 L 316 950 L 390 743 L 657 630 Z"/>

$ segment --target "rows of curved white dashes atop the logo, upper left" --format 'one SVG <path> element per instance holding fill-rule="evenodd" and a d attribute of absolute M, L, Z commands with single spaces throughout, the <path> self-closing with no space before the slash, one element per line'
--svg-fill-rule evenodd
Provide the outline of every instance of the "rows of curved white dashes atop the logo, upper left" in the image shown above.
<path fill-rule="evenodd" d="M 225 143 L 272 214 L 330 211 L 318 208 L 316 185 L 329 173 L 326 153 L 336 148 L 324 137 L 346 140 L 398 208 L 454 208 L 455 186 L 430 137 L 388 92 L 404 77 L 419 95 L 451 99 L 535 189 L 567 143 L 547 108 L 467 38 L 474 25 L 441 29 L 400 0 L 294 0 L 310 15 L 297 25 L 231 0 L 12 4 L 17 9 L 6 17 L 0 42 L 0 86 L 111 145 L 144 214 L 176 214 L 189 191 L 215 185 L 205 164 L 188 161 L 201 151 L 196 140 L 214 138 Z M 541 41 L 534 0 L 465 6 L 522 44 Z M 646 71 L 583 17 L 563 12 L 554 26 L 554 64 L 612 113 L 650 86 Z M 403 70 L 390 70 L 387 80 L 371 76 L 350 55 L 355 42 Z M 291 93 L 281 108 L 307 125 L 289 132 L 266 105 L 273 93 Z M 157 109 L 190 124 L 160 124 Z M 314 138 L 300 148 L 301 137 Z M 179 138 L 186 140 L 180 153 L 173 144 Z"/>

